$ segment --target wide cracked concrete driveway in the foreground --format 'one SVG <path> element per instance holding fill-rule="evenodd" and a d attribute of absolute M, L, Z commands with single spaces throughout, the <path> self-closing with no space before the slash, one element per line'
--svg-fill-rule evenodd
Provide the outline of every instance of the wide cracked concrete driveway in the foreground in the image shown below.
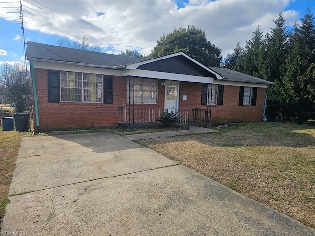
<path fill-rule="evenodd" d="M 315 236 L 110 132 L 24 138 L 10 194 L 6 235 Z"/>

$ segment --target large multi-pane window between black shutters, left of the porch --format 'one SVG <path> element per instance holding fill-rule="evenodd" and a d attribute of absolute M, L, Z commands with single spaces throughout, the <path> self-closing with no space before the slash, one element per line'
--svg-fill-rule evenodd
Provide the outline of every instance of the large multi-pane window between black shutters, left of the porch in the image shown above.
<path fill-rule="evenodd" d="M 60 72 L 61 101 L 102 102 L 103 76 L 97 74 Z"/>

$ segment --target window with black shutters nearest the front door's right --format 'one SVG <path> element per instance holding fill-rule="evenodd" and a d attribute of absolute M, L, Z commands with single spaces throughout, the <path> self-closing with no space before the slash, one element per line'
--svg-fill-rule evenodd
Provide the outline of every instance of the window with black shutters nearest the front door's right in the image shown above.
<path fill-rule="evenodd" d="M 224 85 L 203 84 L 201 105 L 223 105 Z"/>

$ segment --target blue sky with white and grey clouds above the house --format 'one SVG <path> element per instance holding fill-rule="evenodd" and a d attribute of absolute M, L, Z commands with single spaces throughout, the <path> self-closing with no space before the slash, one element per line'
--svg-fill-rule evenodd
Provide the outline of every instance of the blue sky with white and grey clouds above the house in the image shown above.
<path fill-rule="evenodd" d="M 57 45 L 60 37 L 86 35 L 92 44 L 103 47 L 104 52 L 115 54 L 126 49 L 148 54 L 163 33 L 172 32 L 174 27 L 194 25 L 205 29 L 207 39 L 221 48 L 225 57 L 237 42 L 244 46 L 258 24 L 264 32 L 274 27 L 272 20 L 277 19 L 280 10 L 287 29 L 292 29 L 294 22 L 304 16 L 307 7 L 315 12 L 315 1 L 311 0 L 36 1 L 42 9 L 28 2 L 22 1 L 24 9 L 35 16 L 24 14 L 32 18 L 24 21 L 26 41 Z M 8 5 L 0 3 L 1 59 L 23 61 L 19 9 L 4 6 Z M 9 6 L 19 7 L 19 4 Z"/>

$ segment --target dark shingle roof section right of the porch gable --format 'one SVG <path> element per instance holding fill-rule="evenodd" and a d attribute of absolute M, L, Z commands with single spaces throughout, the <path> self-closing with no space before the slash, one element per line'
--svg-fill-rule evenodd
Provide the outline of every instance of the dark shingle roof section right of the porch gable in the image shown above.
<path fill-rule="evenodd" d="M 273 84 L 270 81 L 263 80 L 251 75 L 247 75 L 238 71 L 226 69 L 226 68 L 218 68 L 218 67 L 209 67 L 213 71 L 217 72 L 223 79 L 217 80 L 226 80 L 226 81 L 234 81 L 234 82 L 245 82 L 245 83 L 256 83 L 256 84 Z"/>

